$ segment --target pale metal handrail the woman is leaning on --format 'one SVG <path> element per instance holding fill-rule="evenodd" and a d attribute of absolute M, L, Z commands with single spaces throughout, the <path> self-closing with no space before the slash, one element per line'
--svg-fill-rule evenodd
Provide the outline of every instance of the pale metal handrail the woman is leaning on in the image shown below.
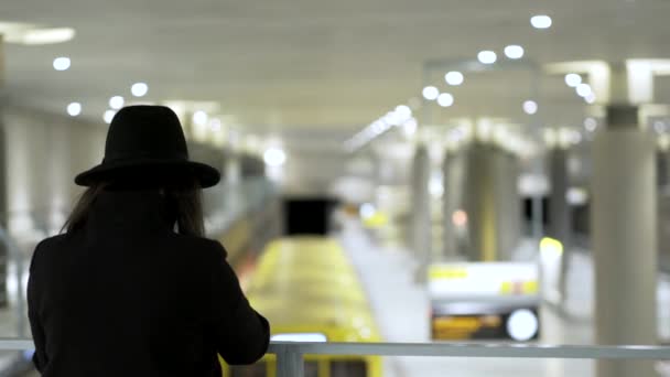
<path fill-rule="evenodd" d="M 33 348 L 29 338 L 0 338 L 0 349 Z M 478 358 L 670 359 L 670 347 L 647 345 L 542 345 L 501 343 L 305 343 L 271 342 L 278 377 L 303 377 L 304 355 L 378 355 Z"/>

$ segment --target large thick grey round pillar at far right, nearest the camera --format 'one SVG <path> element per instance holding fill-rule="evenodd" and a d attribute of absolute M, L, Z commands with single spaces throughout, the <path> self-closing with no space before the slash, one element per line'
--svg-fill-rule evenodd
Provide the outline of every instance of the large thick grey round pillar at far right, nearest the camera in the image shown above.
<path fill-rule="evenodd" d="M 598 344 L 657 343 L 657 191 L 652 137 L 637 108 L 607 108 L 593 142 L 592 229 Z M 653 362 L 599 360 L 599 377 L 656 376 Z"/>

